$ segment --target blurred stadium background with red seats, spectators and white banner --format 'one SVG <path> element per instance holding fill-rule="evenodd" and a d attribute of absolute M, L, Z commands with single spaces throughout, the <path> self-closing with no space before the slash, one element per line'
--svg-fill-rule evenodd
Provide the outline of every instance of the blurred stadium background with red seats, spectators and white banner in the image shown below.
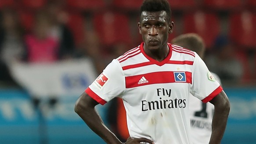
<path fill-rule="evenodd" d="M 74 104 L 113 58 L 142 42 L 142 1 L 0 0 L 1 144 L 104 144 Z M 222 143 L 256 144 L 256 0 L 169 3 L 169 41 L 202 36 L 205 63 L 230 98 Z M 113 104 L 97 109 L 114 129 Z"/>

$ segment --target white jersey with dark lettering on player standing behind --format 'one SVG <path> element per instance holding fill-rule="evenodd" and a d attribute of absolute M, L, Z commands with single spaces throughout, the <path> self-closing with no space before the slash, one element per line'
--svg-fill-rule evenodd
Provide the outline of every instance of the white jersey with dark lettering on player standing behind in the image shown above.
<path fill-rule="evenodd" d="M 219 76 L 215 73 L 212 73 L 212 76 L 221 84 Z M 214 105 L 209 102 L 203 103 L 190 94 L 189 110 L 193 144 L 208 144 L 212 134 Z"/>

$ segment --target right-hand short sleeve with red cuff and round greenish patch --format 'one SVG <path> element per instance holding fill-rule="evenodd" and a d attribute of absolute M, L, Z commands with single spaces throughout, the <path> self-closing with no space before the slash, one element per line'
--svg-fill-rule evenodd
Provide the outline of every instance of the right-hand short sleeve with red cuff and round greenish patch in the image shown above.
<path fill-rule="evenodd" d="M 201 101 L 208 102 L 222 90 L 220 84 L 212 76 L 211 72 L 209 72 L 205 62 L 196 54 L 192 68 L 192 86 L 190 93 Z"/>

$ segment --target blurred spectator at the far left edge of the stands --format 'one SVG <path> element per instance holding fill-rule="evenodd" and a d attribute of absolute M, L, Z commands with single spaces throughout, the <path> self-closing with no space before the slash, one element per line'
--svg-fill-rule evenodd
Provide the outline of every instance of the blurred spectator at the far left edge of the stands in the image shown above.
<path fill-rule="evenodd" d="M 15 10 L 4 8 L 0 20 L 0 81 L 11 82 L 8 65 L 24 58 L 24 29 Z"/>

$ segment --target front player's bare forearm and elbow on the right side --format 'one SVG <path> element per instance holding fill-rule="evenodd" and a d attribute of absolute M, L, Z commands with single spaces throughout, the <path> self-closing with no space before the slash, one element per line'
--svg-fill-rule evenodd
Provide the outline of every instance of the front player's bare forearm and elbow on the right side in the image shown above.
<path fill-rule="evenodd" d="M 227 125 L 230 103 L 223 90 L 209 102 L 214 105 L 212 135 L 209 144 L 220 144 Z"/>

